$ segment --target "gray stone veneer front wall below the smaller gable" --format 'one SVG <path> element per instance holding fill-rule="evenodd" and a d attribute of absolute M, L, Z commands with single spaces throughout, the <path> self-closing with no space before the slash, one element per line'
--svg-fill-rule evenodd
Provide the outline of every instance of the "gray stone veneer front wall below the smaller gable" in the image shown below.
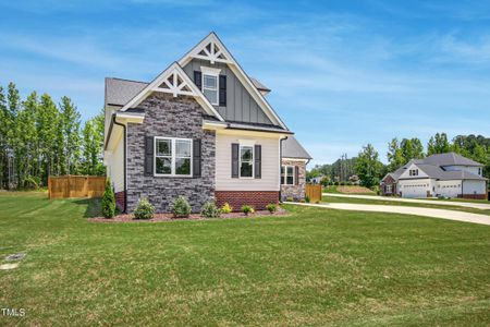
<path fill-rule="evenodd" d="M 199 211 L 215 197 L 216 165 L 216 135 L 203 130 L 203 108 L 192 97 L 167 94 L 152 94 L 138 108 L 145 109 L 145 121 L 127 125 L 127 211 L 145 196 L 157 213 L 168 213 L 179 195 L 187 197 L 193 211 Z M 145 175 L 145 136 L 200 138 L 201 177 Z"/>

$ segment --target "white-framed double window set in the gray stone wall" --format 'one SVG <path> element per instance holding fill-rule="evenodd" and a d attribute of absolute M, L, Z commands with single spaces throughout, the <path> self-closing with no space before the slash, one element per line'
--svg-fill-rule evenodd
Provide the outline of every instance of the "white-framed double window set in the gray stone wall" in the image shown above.
<path fill-rule="evenodd" d="M 155 174 L 192 175 L 193 141 L 155 137 Z"/>

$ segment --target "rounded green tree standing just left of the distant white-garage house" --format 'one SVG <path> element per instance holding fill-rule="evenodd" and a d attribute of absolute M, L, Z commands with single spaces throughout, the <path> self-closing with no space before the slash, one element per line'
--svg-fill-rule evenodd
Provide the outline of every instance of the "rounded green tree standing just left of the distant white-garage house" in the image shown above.
<path fill-rule="evenodd" d="M 363 147 L 357 156 L 355 168 L 363 186 L 371 189 L 379 184 L 383 165 L 379 161 L 378 152 L 371 144 Z"/>

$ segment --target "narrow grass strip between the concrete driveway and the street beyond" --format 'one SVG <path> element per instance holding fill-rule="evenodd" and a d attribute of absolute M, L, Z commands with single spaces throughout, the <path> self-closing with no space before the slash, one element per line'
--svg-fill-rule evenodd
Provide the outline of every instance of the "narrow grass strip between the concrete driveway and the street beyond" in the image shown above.
<path fill-rule="evenodd" d="M 445 210 L 456 210 L 464 213 L 473 213 L 480 215 L 490 215 L 490 209 L 477 209 L 477 208 L 465 208 L 448 205 L 438 204 L 436 201 L 433 204 L 426 203 L 414 203 L 414 202 L 403 202 L 403 201 L 389 201 L 389 199 L 378 199 L 378 198 L 356 198 L 356 197 L 340 197 L 340 196 L 322 196 L 322 202 L 326 203 L 353 203 L 353 204 L 372 204 L 372 205 L 389 205 L 389 206 L 407 206 L 407 207 L 422 207 L 422 208 L 434 208 L 434 209 L 445 209 Z"/>

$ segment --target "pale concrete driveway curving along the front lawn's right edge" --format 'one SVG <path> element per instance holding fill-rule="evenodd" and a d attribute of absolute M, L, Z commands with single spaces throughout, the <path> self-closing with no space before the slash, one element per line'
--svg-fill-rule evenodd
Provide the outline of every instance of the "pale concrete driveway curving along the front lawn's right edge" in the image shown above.
<path fill-rule="evenodd" d="M 490 216 L 446 210 L 446 209 L 432 209 L 422 207 L 408 207 L 408 206 L 385 206 L 385 205 L 364 205 L 364 204 L 350 204 L 350 203 L 324 203 L 324 204 L 310 204 L 310 203 L 293 203 L 287 204 L 319 207 L 326 209 L 338 210 L 351 210 L 351 211 L 376 211 L 376 213 L 392 213 L 403 215 L 415 215 L 430 218 L 442 218 L 449 220 L 466 221 L 481 225 L 490 225 Z"/>

